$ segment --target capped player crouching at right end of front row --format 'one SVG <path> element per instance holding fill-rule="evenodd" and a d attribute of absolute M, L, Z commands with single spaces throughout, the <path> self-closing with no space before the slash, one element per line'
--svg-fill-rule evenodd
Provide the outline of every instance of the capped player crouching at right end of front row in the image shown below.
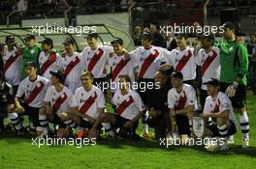
<path fill-rule="evenodd" d="M 218 143 L 209 142 L 206 149 L 209 152 L 225 151 L 228 149 L 227 137 L 237 132 L 232 103 L 226 94 L 219 92 L 220 83 L 217 79 L 210 78 L 205 84 L 209 96 L 201 116 L 205 121 L 209 118 L 213 121 L 213 125 L 206 128 L 205 136 L 221 138 Z"/>

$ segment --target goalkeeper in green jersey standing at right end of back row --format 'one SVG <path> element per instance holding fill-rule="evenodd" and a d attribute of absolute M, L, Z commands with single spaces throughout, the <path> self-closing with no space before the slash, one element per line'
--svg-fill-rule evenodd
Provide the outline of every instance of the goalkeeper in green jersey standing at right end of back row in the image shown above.
<path fill-rule="evenodd" d="M 236 38 L 235 25 L 224 23 L 223 42 L 220 42 L 220 91 L 225 92 L 234 108 L 240 113 L 240 129 L 243 148 L 249 146 L 249 121 L 245 108 L 246 74 L 248 71 L 248 52 L 245 44 Z M 225 106 L 225 105 L 224 105 Z M 230 138 L 230 142 L 234 142 Z"/>

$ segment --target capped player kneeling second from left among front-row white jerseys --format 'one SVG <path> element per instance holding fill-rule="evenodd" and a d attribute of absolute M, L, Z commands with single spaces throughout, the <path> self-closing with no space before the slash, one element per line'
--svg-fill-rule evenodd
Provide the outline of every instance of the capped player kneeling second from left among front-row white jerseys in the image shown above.
<path fill-rule="evenodd" d="M 40 112 L 40 117 L 47 117 L 48 121 L 58 126 L 57 137 L 69 135 L 72 127 L 77 127 L 69 106 L 72 91 L 64 86 L 65 74 L 61 70 L 49 71 L 51 85 L 45 96 L 45 111 Z M 47 128 L 46 128 L 47 129 Z M 65 131 L 65 132 L 63 132 Z"/>

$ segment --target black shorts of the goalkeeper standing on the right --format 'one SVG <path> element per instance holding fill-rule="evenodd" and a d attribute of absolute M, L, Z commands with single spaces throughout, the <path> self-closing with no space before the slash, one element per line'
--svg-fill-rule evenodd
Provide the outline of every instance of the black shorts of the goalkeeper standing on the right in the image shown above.
<path fill-rule="evenodd" d="M 225 93 L 226 89 L 231 85 L 231 83 L 220 83 L 220 91 Z M 246 86 L 239 84 L 235 97 L 230 98 L 234 108 L 245 107 L 246 102 Z"/>

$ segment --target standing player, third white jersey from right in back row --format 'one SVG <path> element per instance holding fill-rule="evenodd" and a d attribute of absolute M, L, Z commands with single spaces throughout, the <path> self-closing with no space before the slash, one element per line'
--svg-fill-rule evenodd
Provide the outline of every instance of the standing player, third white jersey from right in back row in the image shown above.
<path fill-rule="evenodd" d="M 152 45 L 153 37 L 150 33 L 144 32 L 142 36 L 142 44 L 135 50 L 130 52 L 130 56 L 136 59 L 137 66 L 139 66 L 138 85 L 154 84 L 154 74 L 160 70 L 161 65 L 166 64 L 167 58 L 170 56 L 170 51 L 165 48 Z M 142 85 L 141 85 L 142 84 Z M 144 101 L 145 106 L 148 105 L 148 96 L 152 91 L 150 89 L 139 88 L 138 93 Z M 148 112 L 145 111 L 143 117 L 143 136 L 148 138 L 148 126 L 146 124 Z"/>

